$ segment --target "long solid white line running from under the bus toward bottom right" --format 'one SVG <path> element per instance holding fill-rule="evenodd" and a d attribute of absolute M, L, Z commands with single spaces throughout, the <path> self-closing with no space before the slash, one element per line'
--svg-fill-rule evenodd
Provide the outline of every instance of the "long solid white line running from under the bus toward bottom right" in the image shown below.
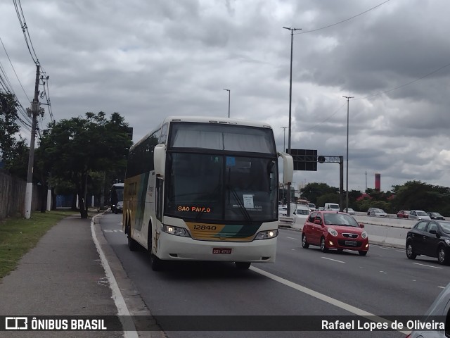
<path fill-rule="evenodd" d="M 314 290 L 308 289 L 307 287 L 302 287 L 302 285 L 295 284 L 294 282 L 290 282 L 289 280 L 285 280 L 284 278 L 278 277 L 272 273 L 268 273 L 264 270 L 255 268 L 254 266 L 250 266 L 250 270 L 255 271 L 255 273 L 259 273 L 260 275 L 269 277 L 271 280 L 279 282 L 281 284 L 285 284 L 287 287 L 292 287 L 297 291 L 303 292 L 304 294 L 309 294 L 309 296 L 313 296 L 316 299 L 320 299 L 321 301 L 325 301 L 326 303 L 330 303 L 331 305 L 337 306 L 338 308 L 342 308 L 345 311 L 354 313 L 355 315 L 359 315 L 364 318 L 368 318 L 369 320 L 373 320 L 378 323 L 388 323 L 388 325 L 392 325 L 390 320 L 386 320 L 385 318 L 381 318 L 378 315 L 374 315 L 373 313 L 361 310 L 361 308 L 356 308 L 350 304 L 344 303 L 343 301 L 338 301 L 338 299 L 331 298 L 330 296 L 326 296 L 325 294 L 321 294 Z M 409 334 L 411 331 L 400 331 L 404 334 Z"/>

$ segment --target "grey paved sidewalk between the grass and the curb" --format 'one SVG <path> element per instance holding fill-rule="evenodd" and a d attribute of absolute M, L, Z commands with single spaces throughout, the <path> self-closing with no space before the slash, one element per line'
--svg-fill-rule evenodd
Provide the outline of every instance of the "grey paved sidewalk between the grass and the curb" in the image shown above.
<path fill-rule="evenodd" d="M 75 215 L 60 221 L 0 280 L 0 315 L 117 315 L 90 219 Z M 125 336 L 117 331 L 6 331 L 0 337 Z"/>

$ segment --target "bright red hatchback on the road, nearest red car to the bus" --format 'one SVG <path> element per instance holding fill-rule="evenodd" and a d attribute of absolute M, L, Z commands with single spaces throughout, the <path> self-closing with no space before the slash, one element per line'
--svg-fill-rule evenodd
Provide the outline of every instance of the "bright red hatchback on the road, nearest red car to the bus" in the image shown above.
<path fill-rule="evenodd" d="M 368 235 L 363 228 L 364 224 L 358 224 L 348 213 L 314 211 L 304 223 L 302 246 L 308 249 L 309 245 L 317 245 L 322 252 L 353 250 L 366 256 Z"/>

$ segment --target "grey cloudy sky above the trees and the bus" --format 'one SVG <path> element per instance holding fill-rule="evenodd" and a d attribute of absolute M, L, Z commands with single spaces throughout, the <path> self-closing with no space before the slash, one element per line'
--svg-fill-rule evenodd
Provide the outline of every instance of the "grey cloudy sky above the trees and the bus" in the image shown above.
<path fill-rule="evenodd" d="M 283 27 L 301 28 L 291 148 L 346 156 L 342 96 L 353 96 L 349 189 L 373 188 L 375 173 L 383 191 L 409 180 L 450 187 L 449 13 L 448 0 L 1 0 L 0 65 L 28 107 L 34 49 L 55 120 L 118 112 L 135 142 L 167 115 L 227 117 L 230 89 L 231 118 L 269 123 L 281 151 L 291 42 Z M 339 165 L 294 181 L 339 187 Z"/>

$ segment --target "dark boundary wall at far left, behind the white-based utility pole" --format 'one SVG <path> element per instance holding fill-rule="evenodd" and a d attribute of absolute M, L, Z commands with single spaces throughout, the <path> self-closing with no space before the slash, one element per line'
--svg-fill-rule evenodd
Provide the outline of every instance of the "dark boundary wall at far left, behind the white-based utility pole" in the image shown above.
<path fill-rule="evenodd" d="M 27 182 L 0 172 L 0 220 L 10 215 L 24 215 Z M 40 210 L 39 190 L 33 185 L 32 211 Z"/>

